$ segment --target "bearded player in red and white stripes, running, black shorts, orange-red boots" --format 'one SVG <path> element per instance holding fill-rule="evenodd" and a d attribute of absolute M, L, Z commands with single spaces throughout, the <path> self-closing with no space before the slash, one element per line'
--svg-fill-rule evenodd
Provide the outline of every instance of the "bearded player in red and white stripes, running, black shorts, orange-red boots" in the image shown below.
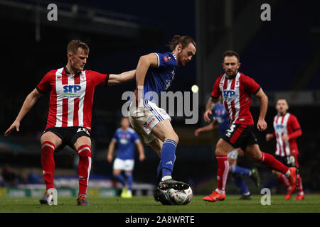
<path fill-rule="evenodd" d="M 262 162 L 267 167 L 277 170 L 286 175 L 292 183 L 296 182 L 296 168 L 287 167 L 276 160 L 272 155 L 264 153 L 257 145 L 257 138 L 253 133 L 254 121 L 250 113 L 251 96 L 260 99 L 260 115 L 257 129 L 264 131 L 267 128 L 265 114 L 267 113 L 268 98 L 254 79 L 238 72 L 240 67 L 239 55 L 233 50 L 227 50 L 223 55 L 223 70 L 225 74 L 220 75 L 213 85 L 213 92 L 206 105 L 203 118 L 210 122 L 209 115 L 218 101 L 223 96 L 223 104 L 228 111 L 230 127 L 218 140 L 215 149 L 215 157 L 218 162 L 217 189 L 209 196 L 203 198 L 205 201 L 218 201 L 225 199 L 225 184 L 228 178 L 229 162 L 228 153 L 234 148 L 242 148 L 255 162 Z"/>

